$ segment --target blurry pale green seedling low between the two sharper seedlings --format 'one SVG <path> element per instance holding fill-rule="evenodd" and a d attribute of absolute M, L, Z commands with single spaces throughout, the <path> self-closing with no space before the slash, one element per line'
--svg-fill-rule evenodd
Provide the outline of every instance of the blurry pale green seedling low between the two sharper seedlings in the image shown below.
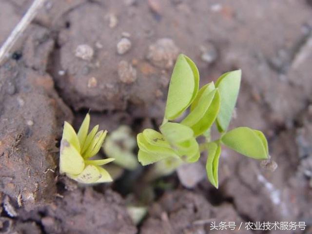
<path fill-rule="evenodd" d="M 106 137 L 102 148 L 107 157 L 115 158 L 115 164 L 128 170 L 135 170 L 139 165 L 133 153 L 136 146 L 136 138 L 132 135 L 131 128 L 122 125 Z"/>

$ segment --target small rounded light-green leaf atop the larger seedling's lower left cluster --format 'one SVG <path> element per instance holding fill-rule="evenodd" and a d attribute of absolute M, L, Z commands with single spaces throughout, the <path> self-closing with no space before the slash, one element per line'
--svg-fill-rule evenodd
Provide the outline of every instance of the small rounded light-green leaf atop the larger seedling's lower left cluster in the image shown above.
<path fill-rule="evenodd" d="M 193 130 L 180 123 L 167 122 L 160 126 L 160 132 L 170 144 L 181 143 L 194 137 Z"/>

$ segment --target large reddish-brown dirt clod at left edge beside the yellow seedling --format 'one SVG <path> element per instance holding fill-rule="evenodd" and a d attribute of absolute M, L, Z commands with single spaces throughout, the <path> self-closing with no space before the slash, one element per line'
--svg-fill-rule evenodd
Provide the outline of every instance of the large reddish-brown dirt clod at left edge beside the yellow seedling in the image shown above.
<path fill-rule="evenodd" d="M 0 191 L 26 210 L 51 201 L 56 193 L 56 139 L 71 111 L 47 74 L 7 62 L 0 68 Z M 16 92 L 6 92 L 10 83 Z M 8 214 L 15 216 L 6 206 Z"/>

